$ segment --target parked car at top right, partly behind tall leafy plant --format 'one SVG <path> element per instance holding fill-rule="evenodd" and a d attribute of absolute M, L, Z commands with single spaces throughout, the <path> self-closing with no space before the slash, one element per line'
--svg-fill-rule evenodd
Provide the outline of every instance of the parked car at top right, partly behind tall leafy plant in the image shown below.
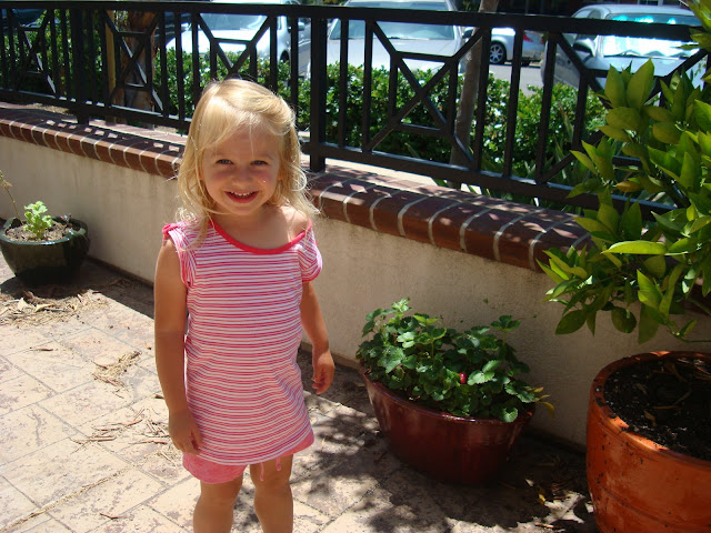
<path fill-rule="evenodd" d="M 592 4 L 585 6 L 574 14 L 578 19 L 607 19 L 634 21 L 641 23 L 661 22 L 667 24 L 700 26 L 699 20 L 687 9 L 667 6 L 633 6 L 633 4 Z M 667 76 L 673 71 L 693 50 L 679 48 L 682 41 L 671 41 L 654 37 L 620 37 L 597 36 L 583 33 L 565 33 L 563 36 L 575 50 L 578 57 L 588 69 L 607 71 L 610 67 L 618 70 L 625 69 L 630 63 L 637 70 L 647 60 L 654 63 L 657 76 Z M 545 58 L 545 54 L 543 54 Z M 545 68 L 543 59 L 541 76 Z M 580 73 L 568 56 L 560 49 L 555 54 L 554 79 L 558 82 L 578 87 Z M 604 74 L 598 78 L 604 87 Z"/>

